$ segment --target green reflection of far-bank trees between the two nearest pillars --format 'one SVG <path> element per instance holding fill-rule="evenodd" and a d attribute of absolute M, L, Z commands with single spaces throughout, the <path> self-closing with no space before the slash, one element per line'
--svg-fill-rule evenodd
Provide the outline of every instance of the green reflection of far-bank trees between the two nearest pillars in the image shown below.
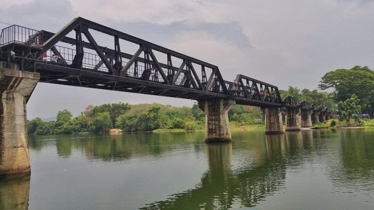
<path fill-rule="evenodd" d="M 186 143 L 195 143 L 195 151 L 203 150 L 198 142 L 202 132 L 177 133 L 127 133 L 123 135 L 58 135 L 54 138 L 33 136 L 30 147 L 40 151 L 43 147 L 55 146 L 59 157 L 70 157 L 73 151 L 82 151 L 88 159 L 120 161 L 136 156 L 159 157 L 165 152 Z M 197 143 L 196 143 L 197 142 Z"/>

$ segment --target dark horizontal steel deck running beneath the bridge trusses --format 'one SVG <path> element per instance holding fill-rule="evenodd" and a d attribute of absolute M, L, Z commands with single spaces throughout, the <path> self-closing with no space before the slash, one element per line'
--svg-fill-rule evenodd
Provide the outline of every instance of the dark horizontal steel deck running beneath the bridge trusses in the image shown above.
<path fill-rule="evenodd" d="M 36 63 L 36 71 L 40 73 L 40 82 L 44 83 L 167 96 L 197 101 L 232 99 L 235 100 L 237 104 L 241 105 L 254 105 L 262 107 L 280 106 L 280 104 L 276 103 L 259 102 L 258 100 L 238 97 L 235 95 L 226 95 L 199 89 L 170 86 L 154 81 L 144 81 L 131 77 L 114 76 L 88 69 L 76 70 L 51 62 L 38 61 Z"/>

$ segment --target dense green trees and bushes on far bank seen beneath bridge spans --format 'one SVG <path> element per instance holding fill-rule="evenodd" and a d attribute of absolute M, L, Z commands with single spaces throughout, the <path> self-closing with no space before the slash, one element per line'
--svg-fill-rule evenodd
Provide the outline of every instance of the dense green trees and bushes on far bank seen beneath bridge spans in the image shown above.
<path fill-rule="evenodd" d="M 262 118 L 262 111 L 258 107 L 235 105 L 229 111 L 228 117 L 232 123 L 254 124 L 254 119 Z M 57 113 L 56 122 L 44 122 L 40 118 L 28 122 L 29 134 L 35 135 L 105 133 L 112 128 L 125 132 L 152 131 L 159 128 L 198 130 L 205 128 L 205 113 L 197 104 L 192 107 L 174 107 L 117 103 L 89 105 L 75 118 L 69 110 L 62 110 Z"/>

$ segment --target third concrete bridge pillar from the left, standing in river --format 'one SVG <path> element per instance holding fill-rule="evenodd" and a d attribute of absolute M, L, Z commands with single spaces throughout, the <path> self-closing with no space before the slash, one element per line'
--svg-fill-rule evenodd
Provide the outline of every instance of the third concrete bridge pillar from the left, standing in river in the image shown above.
<path fill-rule="evenodd" d="M 265 115 L 265 133 L 283 133 L 282 108 L 265 107 L 262 110 Z"/>

